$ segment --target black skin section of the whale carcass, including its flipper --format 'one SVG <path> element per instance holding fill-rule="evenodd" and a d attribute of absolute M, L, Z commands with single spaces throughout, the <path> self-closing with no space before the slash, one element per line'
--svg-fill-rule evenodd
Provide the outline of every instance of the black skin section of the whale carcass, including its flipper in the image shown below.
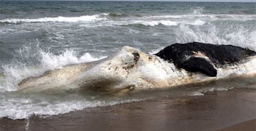
<path fill-rule="evenodd" d="M 208 76 L 216 76 L 217 72 L 209 60 L 191 57 L 195 52 L 201 52 L 207 56 L 216 67 L 225 67 L 227 64 L 237 64 L 246 57 L 256 55 L 256 52 L 234 45 L 214 45 L 199 42 L 186 44 L 172 44 L 159 51 L 158 57 L 173 62 L 177 68 L 186 71 L 199 71 Z"/>

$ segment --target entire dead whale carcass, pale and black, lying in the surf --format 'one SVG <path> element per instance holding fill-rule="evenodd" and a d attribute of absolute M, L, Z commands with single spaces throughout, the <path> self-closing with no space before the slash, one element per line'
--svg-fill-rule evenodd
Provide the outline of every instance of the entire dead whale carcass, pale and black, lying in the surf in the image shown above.
<path fill-rule="evenodd" d="M 142 89 L 172 87 L 256 74 L 256 52 L 234 45 L 171 44 L 156 54 L 124 46 L 111 56 L 30 76 L 31 87 Z"/>

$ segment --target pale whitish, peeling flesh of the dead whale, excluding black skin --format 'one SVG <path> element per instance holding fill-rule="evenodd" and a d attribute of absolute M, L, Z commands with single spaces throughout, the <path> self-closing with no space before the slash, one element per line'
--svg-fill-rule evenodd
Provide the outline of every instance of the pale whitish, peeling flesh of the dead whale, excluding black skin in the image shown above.
<path fill-rule="evenodd" d="M 138 53 L 135 59 L 133 53 Z M 110 57 L 97 62 L 66 66 L 48 71 L 39 77 L 23 80 L 19 87 L 61 86 L 90 87 L 100 89 L 124 89 L 168 87 L 196 82 L 213 81 L 229 77 L 256 74 L 256 57 L 249 57 L 246 62 L 236 66 L 218 68 L 216 77 L 209 77 L 200 72 L 187 72 L 177 69 L 173 63 L 125 46 Z M 54 85 L 54 86 L 53 86 Z"/>

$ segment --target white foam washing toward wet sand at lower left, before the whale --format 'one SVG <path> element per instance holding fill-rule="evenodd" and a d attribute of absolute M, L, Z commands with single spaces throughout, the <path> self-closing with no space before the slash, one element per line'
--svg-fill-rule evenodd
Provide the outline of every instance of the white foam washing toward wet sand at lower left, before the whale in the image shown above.
<path fill-rule="evenodd" d="M 73 100 L 65 102 L 50 103 L 47 101 L 33 102 L 31 99 L 2 99 L 0 106 L 0 118 L 7 117 L 10 119 L 28 119 L 33 115 L 53 116 L 58 114 L 69 113 L 71 111 L 82 110 L 89 107 L 112 106 L 116 104 L 143 101 L 145 99 L 128 99 L 121 101 L 88 101 Z"/>

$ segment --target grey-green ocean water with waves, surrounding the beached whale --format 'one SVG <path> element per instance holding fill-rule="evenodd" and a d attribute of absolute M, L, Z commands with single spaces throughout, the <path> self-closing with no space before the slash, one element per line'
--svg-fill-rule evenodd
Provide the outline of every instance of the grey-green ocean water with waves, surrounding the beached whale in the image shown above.
<path fill-rule="evenodd" d="M 180 42 L 256 50 L 256 3 L 0 1 L 0 118 L 51 116 L 166 95 L 204 95 L 256 79 L 131 93 L 25 89 L 17 84 L 68 64 L 105 58 L 130 45 L 156 53 Z M 223 84 L 224 83 L 224 84 Z"/>

